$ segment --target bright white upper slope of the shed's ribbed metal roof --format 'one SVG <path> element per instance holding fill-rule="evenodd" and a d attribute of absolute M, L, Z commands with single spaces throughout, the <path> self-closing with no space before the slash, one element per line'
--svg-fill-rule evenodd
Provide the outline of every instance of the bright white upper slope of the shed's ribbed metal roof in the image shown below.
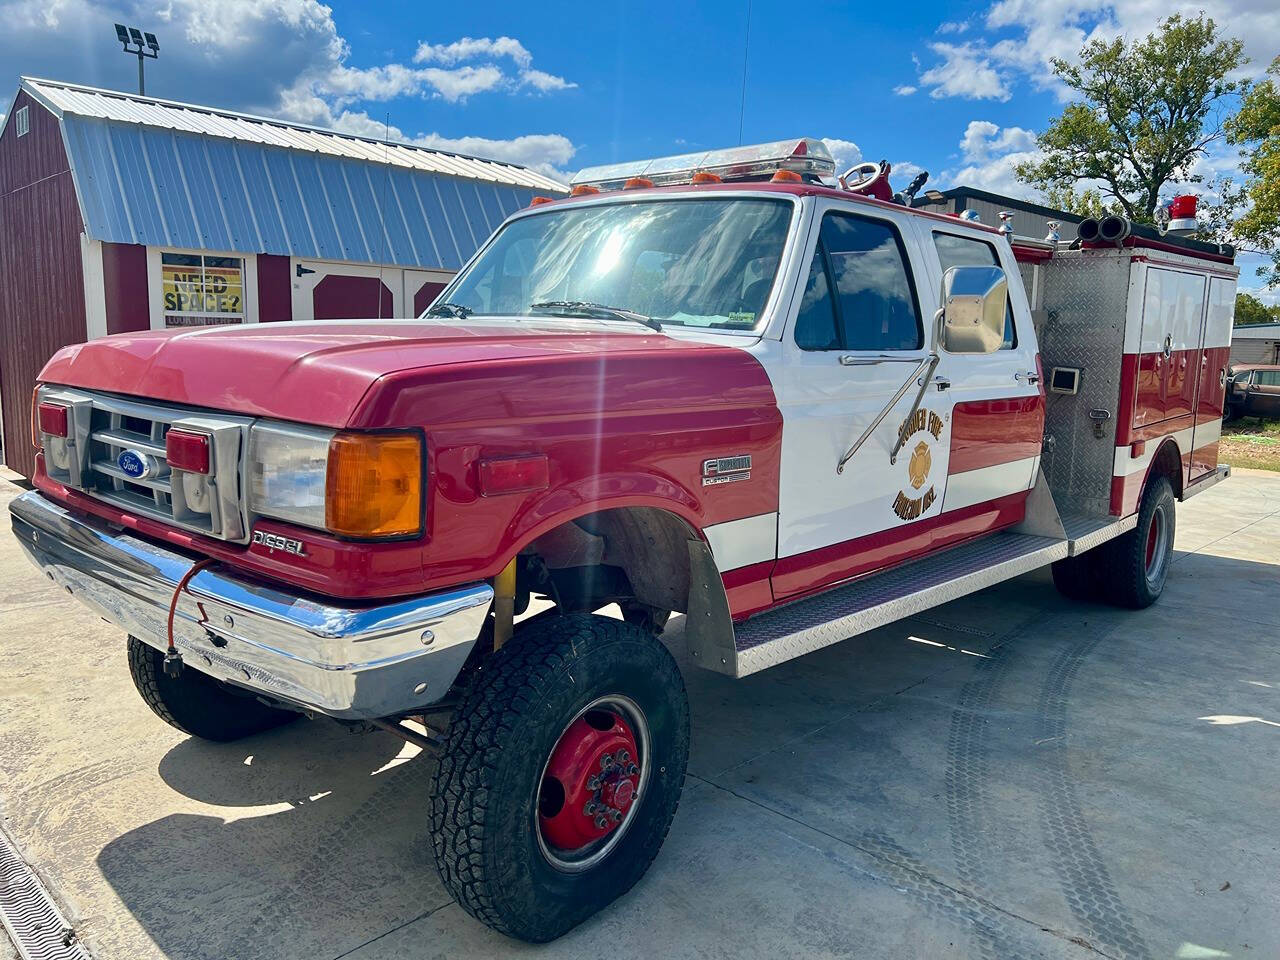
<path fill-rule="evenodd" d="M 32 97 L 59 116 L 73 114 L 118 123 L 137 123 L 160 129 L 389 164 L 410 170 L 465 177 L 512 187 L 527 187 L 556 193 L 567 192 L 564 184 L 549 177 L 500 160 L 484 160 L 408 143 L 356 137 L 320 127 L 284 123 L 252 114 L 182 104 L 174 100 L 157 100 L 156 97 L 100 90 L 77 83 L 23 77 L 22 86 Z"/>

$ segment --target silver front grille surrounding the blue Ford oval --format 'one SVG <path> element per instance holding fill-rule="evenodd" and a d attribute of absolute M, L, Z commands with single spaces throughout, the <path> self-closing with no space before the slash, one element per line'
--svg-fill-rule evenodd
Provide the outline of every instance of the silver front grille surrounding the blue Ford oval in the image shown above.
<path fill-rule="evenodd" d="M 131 513 L 223 540 L 248 539 L 242 483 L 248 419 L 56 387 L 42 387 L 40 399 L 69 407 L 63 467 L 50 456 L 51 438 L 42 438 L 52 479 Z M 210 438 L 207 476 L 170 468 L 165 436 L 175 426 Z M 146 463 L 146 476 L 122 468 L 125 452 Z"/>

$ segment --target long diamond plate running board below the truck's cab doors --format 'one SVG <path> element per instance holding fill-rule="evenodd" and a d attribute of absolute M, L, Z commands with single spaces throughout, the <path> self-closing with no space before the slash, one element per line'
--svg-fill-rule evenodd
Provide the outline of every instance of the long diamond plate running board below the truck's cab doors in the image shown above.
<path fill-rule="evenodd" d="M 993 534 L 796 600 L 737 625 L 736 667 L 724 672 L 745 677 L 803 657 L 1062 559 L 1068 547 L 1059 538 Z"/>

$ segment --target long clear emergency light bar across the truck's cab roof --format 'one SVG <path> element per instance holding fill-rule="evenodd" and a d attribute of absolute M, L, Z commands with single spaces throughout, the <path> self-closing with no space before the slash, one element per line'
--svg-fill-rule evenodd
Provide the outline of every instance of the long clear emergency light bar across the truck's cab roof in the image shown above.
<path fill-rule="evenodd" d="M 588 166 L 570 182 L 600 189 L 618 189 L 627 180 L 652 180 L 655 187 L 705 182 L 698 174 L 714 174 L 721 180 L 767 180 L 778 170 L 801 177 L 835 177 L 836 163 L 820 140 L 780 140 L 746 147 L 708 150 L 678 156 L 660 156 L 626 164 Z"/>

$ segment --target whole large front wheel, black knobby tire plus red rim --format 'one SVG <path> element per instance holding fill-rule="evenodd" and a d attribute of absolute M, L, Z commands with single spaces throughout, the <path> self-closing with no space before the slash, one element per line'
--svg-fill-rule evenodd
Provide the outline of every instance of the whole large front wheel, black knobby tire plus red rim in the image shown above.
<path fill-rule="evenodd" d="M 554 940 L 644 876 L 680 803 L 689 701 L 645 630 L 530 623 L 481 664 L 431 785 L 444 886 L 493 929 Z"/>

